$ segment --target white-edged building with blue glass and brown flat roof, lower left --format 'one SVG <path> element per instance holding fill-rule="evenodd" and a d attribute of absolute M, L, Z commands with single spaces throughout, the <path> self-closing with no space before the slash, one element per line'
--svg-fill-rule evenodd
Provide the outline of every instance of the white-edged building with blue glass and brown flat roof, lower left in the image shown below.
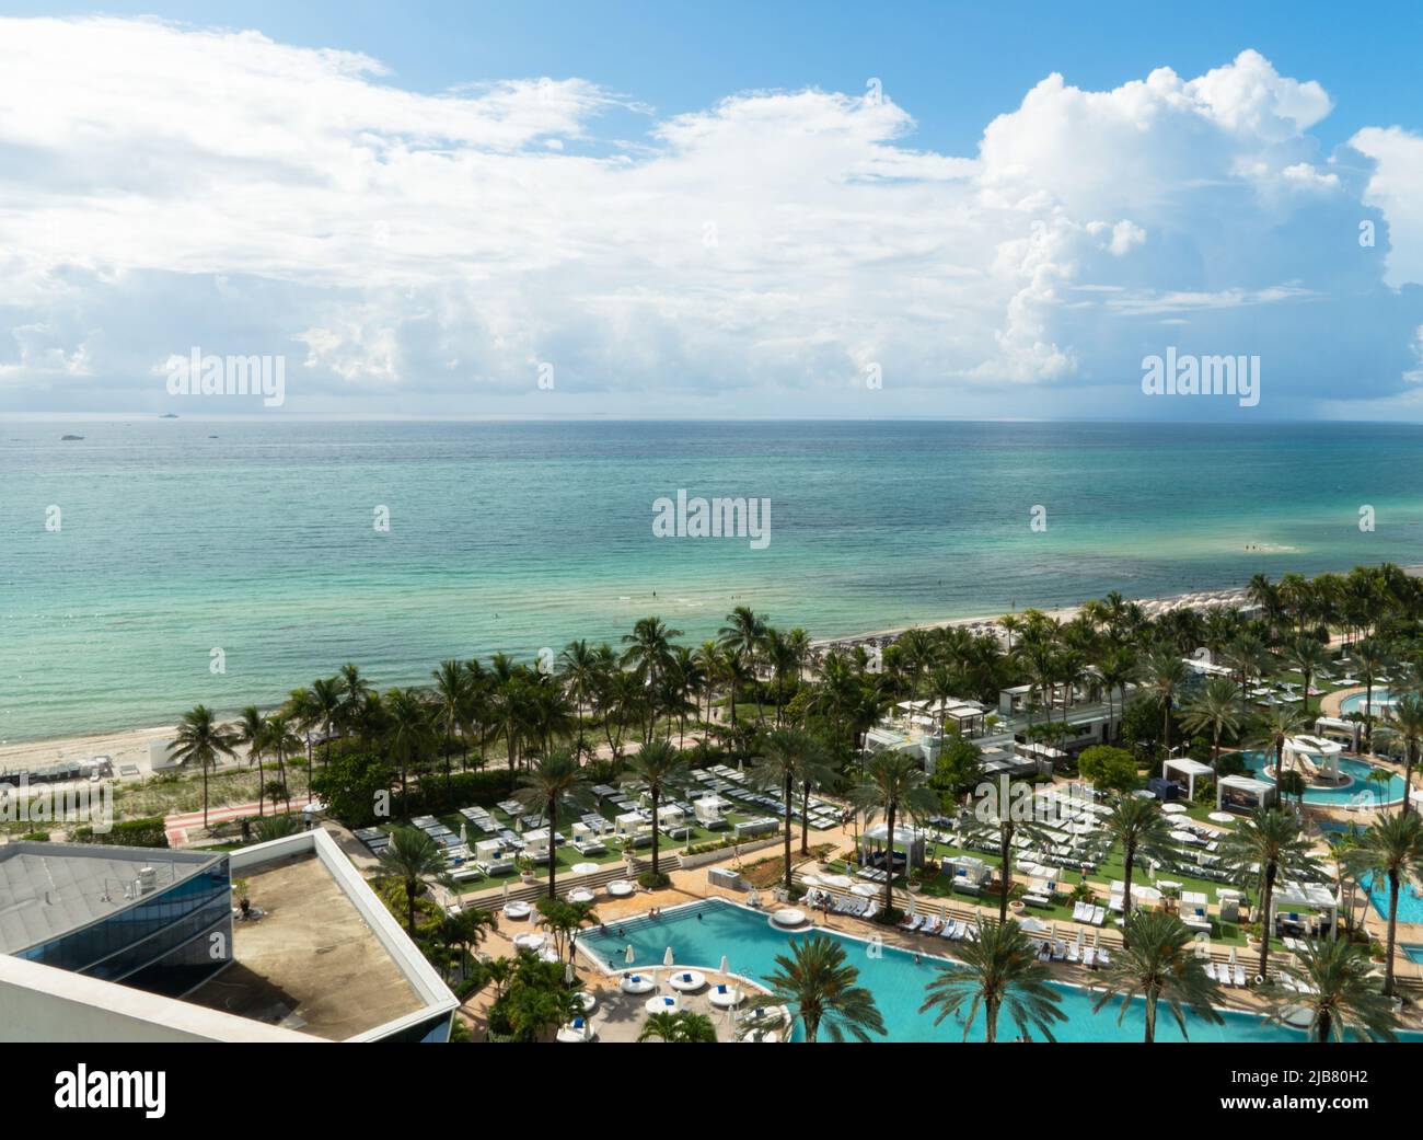
<path fill-rule="evenodd" d="M 438 1042 L 457 1005 L 320 828 L 231 854 L 0 847 L 0 1040 Z"/>

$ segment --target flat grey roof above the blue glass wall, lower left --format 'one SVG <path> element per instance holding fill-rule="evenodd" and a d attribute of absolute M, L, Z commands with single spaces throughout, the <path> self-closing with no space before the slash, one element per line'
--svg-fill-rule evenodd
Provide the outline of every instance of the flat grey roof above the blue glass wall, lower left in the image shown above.
<path fill-rule="evenodd" d="M 73 843 L 0 847 L 0 954 L 20 954 L 70 934 L 142 897 L 138 872 L 151 867 L 155 891 L 198 874 L 222 855 Z"/>

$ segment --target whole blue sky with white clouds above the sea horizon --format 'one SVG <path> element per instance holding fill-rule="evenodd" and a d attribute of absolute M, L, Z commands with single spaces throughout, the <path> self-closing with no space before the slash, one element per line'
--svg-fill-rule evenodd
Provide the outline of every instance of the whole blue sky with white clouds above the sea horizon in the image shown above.
<path fill-rule="evenodd" d="M 0 416 L 1420 420 L 1420 11 L 0 4 Z"/>

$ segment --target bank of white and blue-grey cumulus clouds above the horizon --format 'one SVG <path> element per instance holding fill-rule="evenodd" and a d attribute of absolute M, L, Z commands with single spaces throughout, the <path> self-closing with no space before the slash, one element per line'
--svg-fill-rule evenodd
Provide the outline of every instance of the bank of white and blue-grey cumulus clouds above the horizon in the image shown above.
<path fill-rule="evenodd" d="M 1417 371 L 1423 141 L 1322 154 L 1328 93 L 1258 53 L 1049 75 L 973 155 L 916 147 L 888 94 L 635 95 L 0 20 L 0 407 L 63 374 L 55 407 L 164 408 L 194 344 L 287 354 L 287 408 L 324 413 L 1163 414 L 1138 380 L 1167 340 L 1259 353 L 1278 414 Z M 615 105 L 640 138 L 601 134 Z"/>

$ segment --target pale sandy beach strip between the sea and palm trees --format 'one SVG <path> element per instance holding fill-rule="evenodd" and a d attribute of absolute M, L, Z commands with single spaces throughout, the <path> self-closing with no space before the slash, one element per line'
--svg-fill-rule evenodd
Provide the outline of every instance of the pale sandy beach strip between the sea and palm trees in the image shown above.
<path fill-rule="evenodd" d="M 1403 572 L 1412 578 L 1423 578 L 1423 564 L 1403 566 Z M 1183 605 L 1208 608 L 1212 605 L 1210 599 L 1215 599 L 1214 605 L 1238 603 L 1239 601 L 1244 601 L 1245 589 L 1247 588 L 1242 585 L 1232 585 L 1215 589 L 1183 591 L 1181 593 L 1168 593 L 1155 598 L 1130 598 L 1127 601 L 1136 602 L 1148 612 L 1154 608 L 1157 613 L 1160 613 L 1163 609 L 1180 608 Z M 1081 611 L 1081 605 L 1083 603 L 1079 602 L 1072 606 L 1042 609 L 1042 612 L 1059 621 L 1070 621 Z M 1036 606 L 1025 606 L 1012 612 L 1023 613 L 1026 609 L 1035 608 Z M 867 630 L 840 638 L 815 638 L 811 640 L 811 649 L 824 652 L 831 646 L 850 648 L 857 643 L 894 638 L 909 629 L 951 629 L 955 626 L 998 628 L 998 621 L 1002 616 L 1003 612 L 986 615 L 980 613 L 968 618 L 945 618 L 933 622 L 916 622 L 914 625 L 895 626 L 889 629 Z M 115 771 L 124 764 L 137 764 L 141 773 L 147 773 L 149 741 L 169 737 L 175 729 L 176 723 L 166 723 L 128 729 L 101 729 L 88 733 L 70 733 L 67 736 L 10 741 L 0 744 L 0 773 L 31 767 L 36 764 L 51 764 L 58 760 L 90 760 L 94 756 L 112 757 Z"/>

